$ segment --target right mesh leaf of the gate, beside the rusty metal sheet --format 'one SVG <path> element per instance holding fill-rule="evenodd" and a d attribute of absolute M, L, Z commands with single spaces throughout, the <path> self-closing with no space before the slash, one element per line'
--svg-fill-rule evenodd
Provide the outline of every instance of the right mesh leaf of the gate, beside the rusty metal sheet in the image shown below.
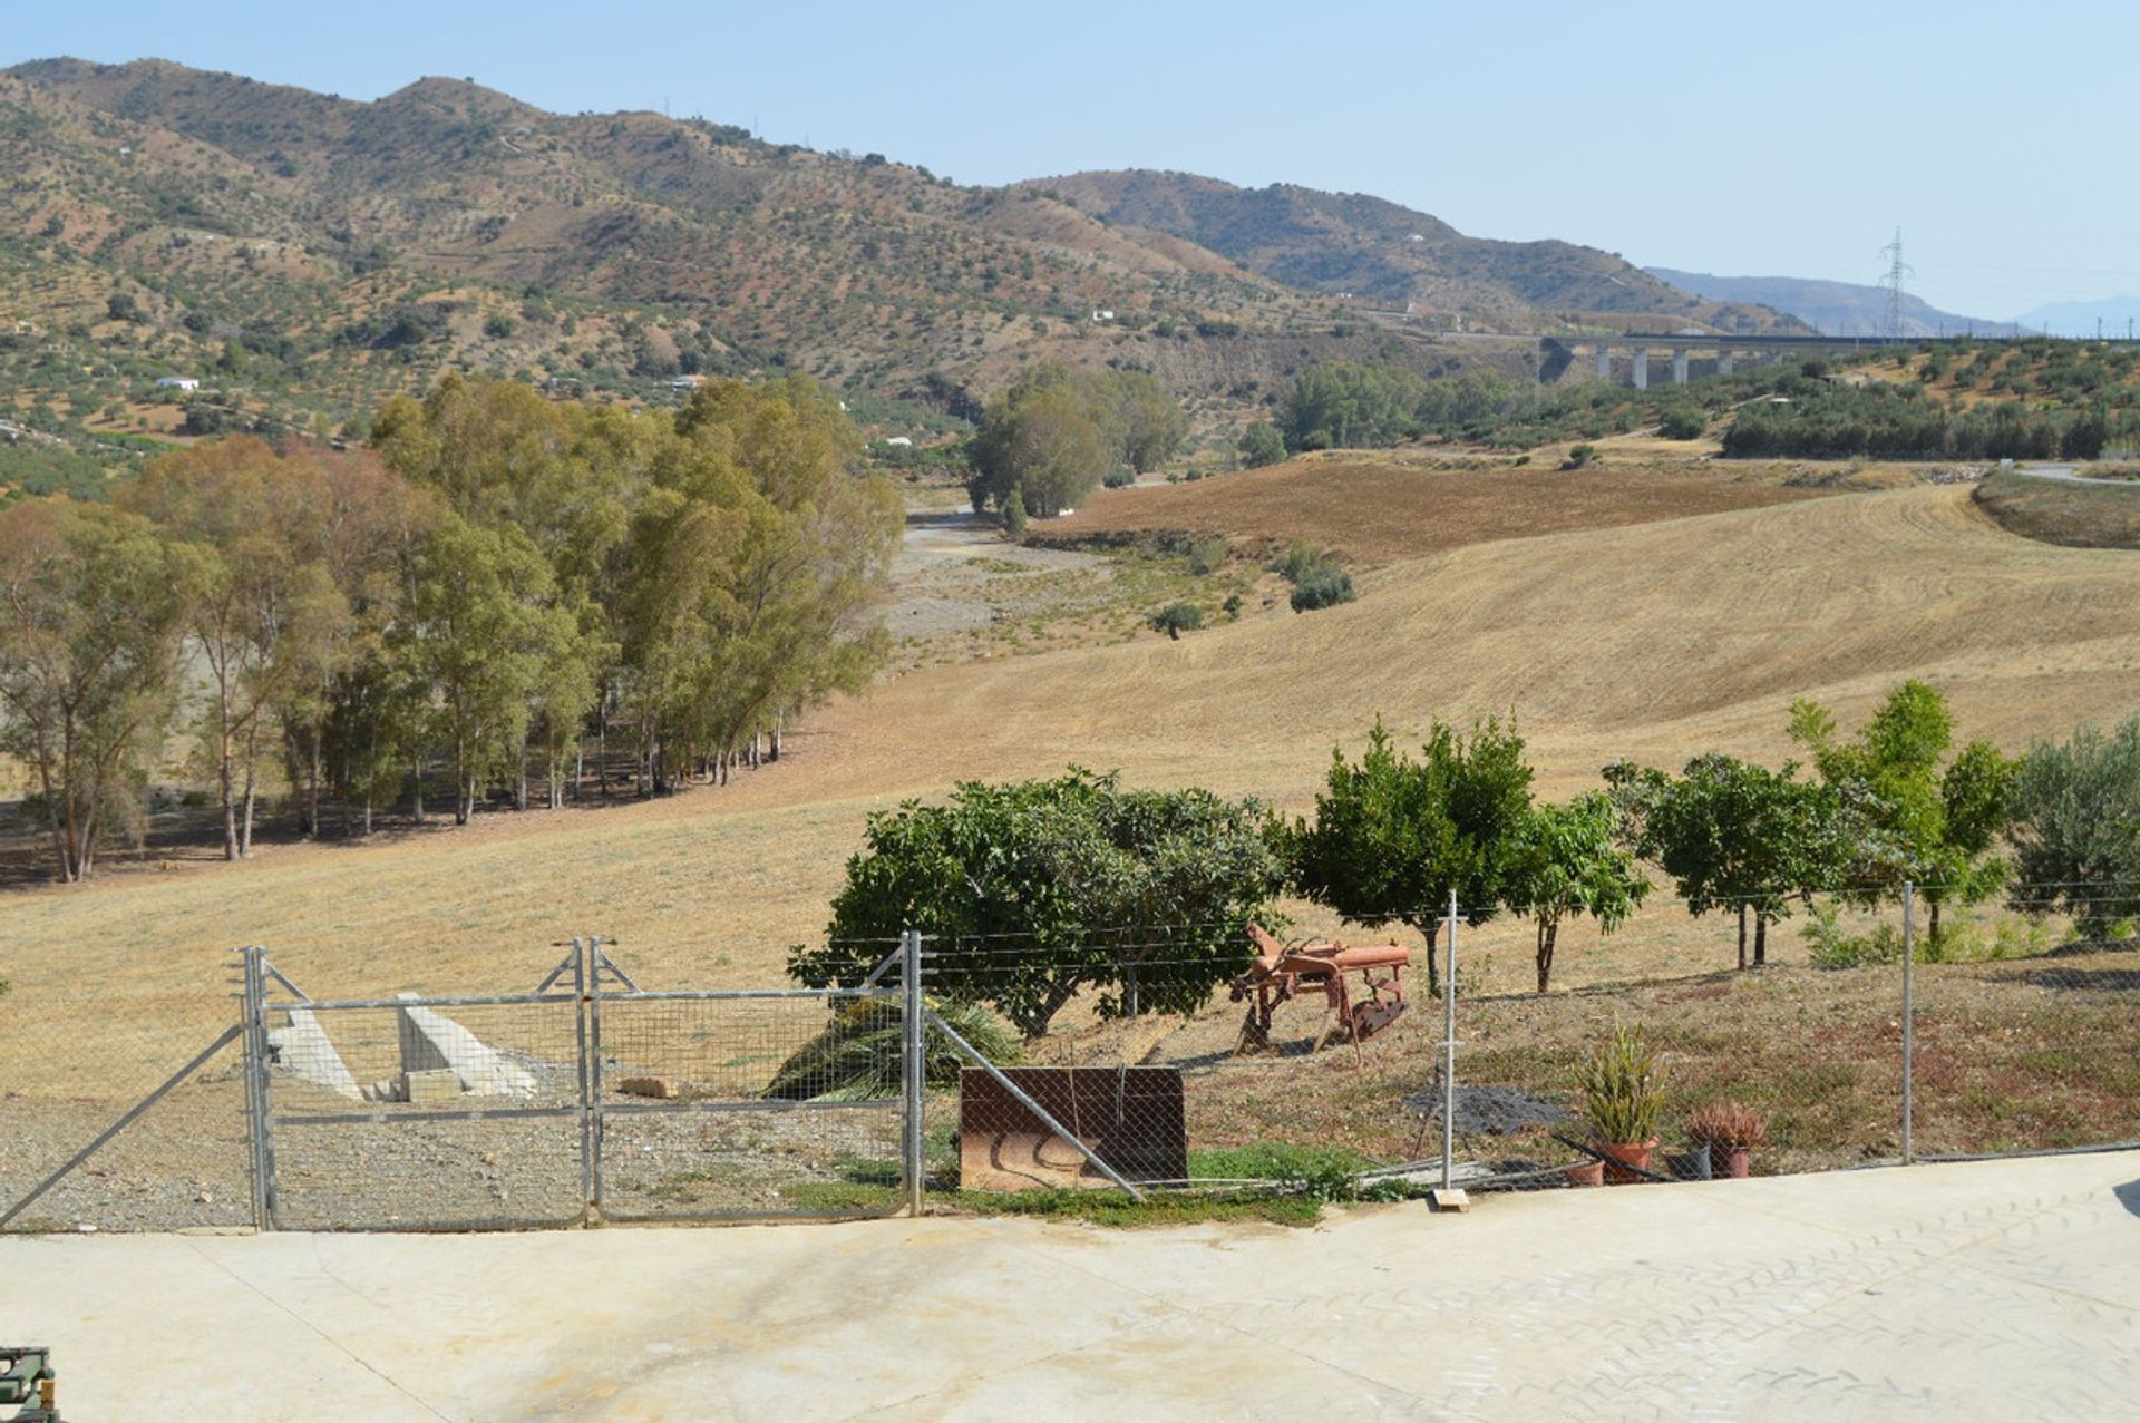
<path fill-rule="evenodd" d="M 603 995 L 597 1019 L 606 1218 L 905 1205 L 897 991 Z"/>

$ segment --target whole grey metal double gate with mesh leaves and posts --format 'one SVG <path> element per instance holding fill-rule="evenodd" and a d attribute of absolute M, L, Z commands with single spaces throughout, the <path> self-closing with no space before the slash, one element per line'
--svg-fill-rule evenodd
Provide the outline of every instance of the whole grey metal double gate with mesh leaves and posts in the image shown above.
<path fill-rule="evenodd" d="M 886 1215 L 918 1194 L 905 944 L 858 989 L 312 999 L 244 950 L 255 1218 L 285 1230 Z M 914 999 L 914 1001 L 910 1001 Z"/>

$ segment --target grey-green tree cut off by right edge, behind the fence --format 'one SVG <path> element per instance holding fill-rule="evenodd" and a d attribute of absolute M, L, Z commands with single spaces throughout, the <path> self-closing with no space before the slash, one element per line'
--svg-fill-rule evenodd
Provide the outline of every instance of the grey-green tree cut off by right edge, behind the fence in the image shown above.
<path fill-rule="evenodd" d="M 2065 909 L 2101 939 L 2140 916 L 2140 717 L 2035 743 L 2012 783 L 2016 884 L 2007 903 Z"/>

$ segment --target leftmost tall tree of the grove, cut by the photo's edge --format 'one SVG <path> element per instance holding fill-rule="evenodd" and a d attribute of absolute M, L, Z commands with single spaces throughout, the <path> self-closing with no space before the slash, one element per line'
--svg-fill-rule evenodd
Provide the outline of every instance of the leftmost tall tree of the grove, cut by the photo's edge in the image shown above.
<path fill-rule="evenodd" d="M 182 606 L 156 529 L 107 505 L 0 509 L 0 749 L 36 777 L 60 879 L 141 815 L 178 700 Z"/>

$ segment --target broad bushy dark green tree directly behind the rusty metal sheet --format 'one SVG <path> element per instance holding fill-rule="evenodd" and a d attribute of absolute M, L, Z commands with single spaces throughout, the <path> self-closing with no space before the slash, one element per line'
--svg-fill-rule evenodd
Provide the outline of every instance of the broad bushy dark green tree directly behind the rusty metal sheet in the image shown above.
<path fill-rule="evenodd" d="M 929 984 L 1044 1034 L 1081 991 L 1109 1016 L 1194 1012 L 1248 965 L 1250 922 L 1275 922 L 1282 832 L 1258 800 L 1053 781 L 961 783 L 948 805 L 869 820 L 824 948 L 796 980 L 860 982 L 905 929 L 931 937 Z"/>

